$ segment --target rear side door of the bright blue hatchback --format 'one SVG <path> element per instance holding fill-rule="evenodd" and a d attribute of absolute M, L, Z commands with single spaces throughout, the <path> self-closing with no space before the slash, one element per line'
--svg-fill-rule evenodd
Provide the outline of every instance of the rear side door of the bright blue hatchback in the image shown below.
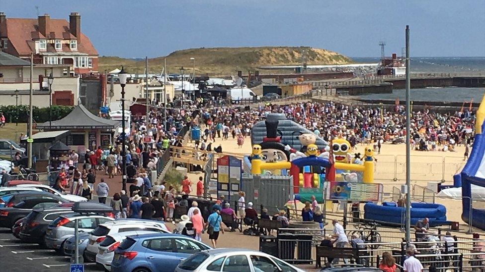
<path fill-rule="evenodd" d="M 180 256 L 174 252 L 174 242 L 170 237 L 145 240 L 142 246 L 147 248 L 145 258 L 151 271 L 158 271 L 160 268 L 174 271 L 180 263 Z"/>

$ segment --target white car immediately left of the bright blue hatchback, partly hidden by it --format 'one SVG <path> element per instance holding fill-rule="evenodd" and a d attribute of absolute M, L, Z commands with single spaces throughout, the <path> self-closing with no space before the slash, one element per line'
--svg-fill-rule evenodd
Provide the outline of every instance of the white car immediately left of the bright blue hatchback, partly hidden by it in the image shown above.
<path fill-rule="evenodd" d="M 149 233 L 160 233 L 155 231 L 126 231 L 106 235 L 106 238 L 99 243 L 98 254 L 96 254 L 96 263 L 102 265 L 107 271 L 111 271 L 111 262 L 114 258 L 114 250 L 120 245 L 127 236 L 140 235 Z"/>

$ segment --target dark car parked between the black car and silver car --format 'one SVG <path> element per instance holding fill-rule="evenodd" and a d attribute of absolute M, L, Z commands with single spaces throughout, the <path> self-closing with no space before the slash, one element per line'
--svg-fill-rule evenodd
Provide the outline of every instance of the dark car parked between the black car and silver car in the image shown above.
<path fill-rule="evenodd" d="M 22 241 L 44 245 L 47 226 L 59 216 L 72 214 L 73 211 L 71 207 L 59 207 L 59 205 L 43 209 L 36 208 L 38 209 L 34 209 L 25 217 L 18 236 Z"/>

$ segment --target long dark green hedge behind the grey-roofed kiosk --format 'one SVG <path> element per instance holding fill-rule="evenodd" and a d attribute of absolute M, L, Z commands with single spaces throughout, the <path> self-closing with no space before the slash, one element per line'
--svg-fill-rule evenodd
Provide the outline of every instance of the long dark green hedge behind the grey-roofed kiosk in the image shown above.
<path fill-rule="evenodd" d="M 72 106 L 51 106 L 52 121 L 59 120 L 68 115 L 74 107 Z M 9 105 L 0 106 L 0 112 L 3 112 L 5 120 L 8 123 L 27 123 L 29 119 L 29 106 L 27 105 Z M 37 108 L 33 107 L 32 115 L 34 123 L 43 123 L 49 121 L 49 107 Z"/>

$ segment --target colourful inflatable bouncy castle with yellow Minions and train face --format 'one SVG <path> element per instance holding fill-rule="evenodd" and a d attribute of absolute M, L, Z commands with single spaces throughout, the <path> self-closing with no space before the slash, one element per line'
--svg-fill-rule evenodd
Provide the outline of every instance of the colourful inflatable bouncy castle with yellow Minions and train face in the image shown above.
<path fill-rule="evenodd" d="M 365 149 L 363 159 L 353 158 L 350 143 L 345 139 L 334 139 L 327 145 L 313 132 L 300 131 L 299 125 L 291 126 L 294 131 L 286 130 L 286 135 L 293 137 L 286 138 L 286 143 L 294 144 L 284 144 L 280 122 L 278 118 L 269 118 L 255 124 L 256 127 L 264 124 L 266 133 L 258 132 L 261 142 L 252 141 L 251 155 L 244 158 L 247 173 L 290 175 L 295 194 L 300 188 L 323 188 L 324 181 L 373 182 L 372 148 Z M 251 139 L 256 137 L 252 135 Z"/>

